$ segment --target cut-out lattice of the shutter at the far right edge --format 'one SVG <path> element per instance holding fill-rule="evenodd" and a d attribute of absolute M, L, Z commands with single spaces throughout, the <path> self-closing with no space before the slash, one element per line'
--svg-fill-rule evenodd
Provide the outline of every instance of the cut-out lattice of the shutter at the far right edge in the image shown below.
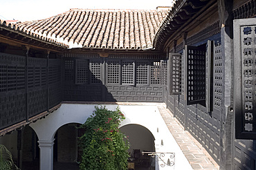
<path fill-rule="evenodd" d="M 244 40 L 241 43 L 241 51 L 243 51 L 241 55 L 241 61 L 244 64 L 241 64 L 242 74 L 242 96 L 243 101 L 243 109 L 244 113 L 244 130 L 245 131 L 254 131 L 256 129 L 253 128 L 253 124 L 256 123 L 255 117 L 253 117 L 253 111 L 256 109 L 256 75 L 255 75 L 255 26 L 244 26 L 241 27 L 241 37 Z"/>

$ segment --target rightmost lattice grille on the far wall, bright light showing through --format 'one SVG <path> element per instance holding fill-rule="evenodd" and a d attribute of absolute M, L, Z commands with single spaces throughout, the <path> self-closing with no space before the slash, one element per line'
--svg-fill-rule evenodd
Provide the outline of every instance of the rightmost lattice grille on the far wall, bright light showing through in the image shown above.
<path fill-rule="evenodd" d="M 150 66 L 150 83 L 161 84 L 161 62 L 153 62 Z"/>

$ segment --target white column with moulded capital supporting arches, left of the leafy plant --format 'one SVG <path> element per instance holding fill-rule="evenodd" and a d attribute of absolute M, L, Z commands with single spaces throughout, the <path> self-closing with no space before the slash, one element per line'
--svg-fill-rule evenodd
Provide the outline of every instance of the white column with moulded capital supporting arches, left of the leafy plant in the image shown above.
<path fill-rule="evenodd" d="M 53 170 L 53 144 L 54 140 L 39 140 L 40 170 Z"/>

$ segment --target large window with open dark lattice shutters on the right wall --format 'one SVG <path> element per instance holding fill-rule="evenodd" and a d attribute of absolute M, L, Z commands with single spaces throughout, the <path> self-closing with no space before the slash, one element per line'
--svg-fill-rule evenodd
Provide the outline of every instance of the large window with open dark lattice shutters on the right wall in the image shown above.
<path fill-rule="evenodd" d="M 212 111 L 213 41 L 201 46 L 185 46 L 185 100 Z"/>

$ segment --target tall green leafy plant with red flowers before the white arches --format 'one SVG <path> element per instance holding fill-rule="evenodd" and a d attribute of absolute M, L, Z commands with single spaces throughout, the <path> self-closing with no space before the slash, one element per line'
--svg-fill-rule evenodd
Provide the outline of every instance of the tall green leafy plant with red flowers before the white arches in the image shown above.
<path fill-rule="evenodd" d="M 118 131 L 122 120 L 125 116 L 119 108 L 109 111 L 105 106 L 95 106 L 93 115 L 79 127 L 85 129 L 79 138 L 82 149 L 80 169 L 127 169 L 129 142 L 127 136 Z"/>

